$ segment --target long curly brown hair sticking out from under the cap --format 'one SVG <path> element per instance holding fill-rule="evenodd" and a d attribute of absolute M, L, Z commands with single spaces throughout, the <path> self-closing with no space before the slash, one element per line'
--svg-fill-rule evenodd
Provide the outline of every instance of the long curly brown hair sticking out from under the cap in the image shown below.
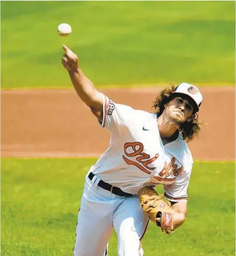
<path fill-rule="evenodd" d="M 170 87 L 166 87 L 165 89 L 161 90 L 159 95 L 156 97 L 155 102 L 153 102 L 153 108 L 155 109 L 155 113 L 157 116 L 161 116 L 165 109 L 165 105 L 170 102 L 170 100 L 173 99 L 172 92 L 175 89 L 175 85 L 173 83 L 170 83 Z M 193 140 L 197 134 L 199 134 L 201 130 L 201 125 L 203 124 L 203 121 L 198 120 L 199 116 L 197 113 L 193 112 L 194 117 L 191 122 L 184 122 L 180 124 L 178 127 L 179 133 L 183 137 L 183 140 L 186 140 L 186 142 L 189 142 L 190 140 Z"/>

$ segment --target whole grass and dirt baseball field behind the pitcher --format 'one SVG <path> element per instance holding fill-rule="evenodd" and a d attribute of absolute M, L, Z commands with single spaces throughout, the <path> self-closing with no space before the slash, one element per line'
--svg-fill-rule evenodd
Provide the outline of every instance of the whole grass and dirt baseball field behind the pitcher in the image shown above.
<path fill-rule="evenodd" d="M 84 177 L 109 143 L 61 66 L 63 44 L 136 109 L 170 82 L 199 86 L 186 223 L 171 238 L 151 224 L 142 244 L 147 256 L 235 255 L 234 1 L 1 1 L 1 255 L 72 255 Z"/>

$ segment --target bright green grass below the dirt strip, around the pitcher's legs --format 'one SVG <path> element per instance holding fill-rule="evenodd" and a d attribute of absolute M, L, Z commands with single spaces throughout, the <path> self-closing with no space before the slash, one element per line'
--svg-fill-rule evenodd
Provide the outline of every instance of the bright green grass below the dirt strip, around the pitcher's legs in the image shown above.
<path fill-rule="evenodd" d="M 84 177 L 93 163 L 2 159 L 1 255 L 72 255 Z M 143 238 L 145 255 L 235 255 L 234 183 L 235 163 L 196 162 L 186 223 L 172 237 L 151 223 Z M 109 252 L 117 255 L 115 234 Z"/>

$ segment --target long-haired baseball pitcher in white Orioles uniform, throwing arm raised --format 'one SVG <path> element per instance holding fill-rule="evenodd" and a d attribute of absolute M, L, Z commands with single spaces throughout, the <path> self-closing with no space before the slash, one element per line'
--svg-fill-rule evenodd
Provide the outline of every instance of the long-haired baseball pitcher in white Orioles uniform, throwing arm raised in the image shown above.
<path fill-rule="evenodd" d="M 155 113 L 120 105 L 98 92 L 77 55 L 63 49 L 62 64 L 77 95 L 111 135 L 108 149 L 85 177 L 74 256 L 106 255 L 113 229 L 119 256 L 143 255 L 141 239 L 149 220 L 172 234 L 186 218 L 193 166 L 186 142 L 200 131 L 203 96 L 196 86 L 180 83 L 159 93 Z M 158 184 L 164 195 L 156 193 Z"/>

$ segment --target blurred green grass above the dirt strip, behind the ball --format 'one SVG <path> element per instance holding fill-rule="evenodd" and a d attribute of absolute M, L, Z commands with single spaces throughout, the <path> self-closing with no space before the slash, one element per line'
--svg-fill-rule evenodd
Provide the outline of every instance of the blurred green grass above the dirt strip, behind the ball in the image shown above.
<path fill-rule="evenodd" d="M 234 85 L 235 2 L 2 1 L 2 88 L 70 87 L 63 43 L 98 86 Z"/>

